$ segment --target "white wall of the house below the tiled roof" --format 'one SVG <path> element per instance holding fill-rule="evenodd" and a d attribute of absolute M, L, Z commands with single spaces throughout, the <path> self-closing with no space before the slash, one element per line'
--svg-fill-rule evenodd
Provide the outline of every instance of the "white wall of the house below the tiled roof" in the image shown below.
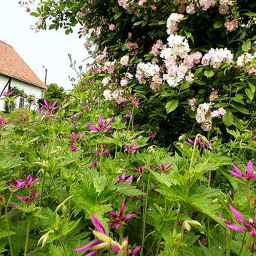
<path fill-rule="evenodd" d="M 7 76 L 0 74 L 0 93 L 4 89 L 8 80 L 9 78 Z M 35 101 L 42 98 L 42 93 L 44 91 L 44 89 L 42 89 L 41 87 L 36 87 L 35 85 L 28 84 L 26 82 L 23 82 L 14 78 L 11 78 L 11 87 L 17 87 L 20 90 L 24 90 L 26 95 L 35 96 L 36 98 Z M 8 88 L 5 89 L 5 91 L 7 90 Z M 20 97 L 17 97 L 17 99 L 15 100 L 16 108 L 19 107 L 19 102 L 20 102 Z M 26 99 L 25 99 L 25 107 L 28 107 L 28 106 L 29 104 L 26 102 Z M 32 105 L 32 109 L 36 109 L 36 108 L 38 108 L 38 104 Z M 5 111 L 5 102 L 3 100 L 0 100 L 0 111 Z"/>

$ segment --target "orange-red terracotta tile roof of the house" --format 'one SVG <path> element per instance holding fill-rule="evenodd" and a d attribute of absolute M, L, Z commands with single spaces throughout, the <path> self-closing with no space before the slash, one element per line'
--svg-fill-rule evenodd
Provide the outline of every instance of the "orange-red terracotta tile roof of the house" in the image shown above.
<path fill-rule="evenodd" d="M 47 89 L 11 45 L 0 41 L 0 74 Z"/>

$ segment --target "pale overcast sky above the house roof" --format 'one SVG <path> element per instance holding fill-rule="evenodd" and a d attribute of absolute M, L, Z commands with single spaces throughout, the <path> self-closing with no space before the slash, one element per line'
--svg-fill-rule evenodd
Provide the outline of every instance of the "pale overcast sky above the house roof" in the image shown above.
<path fill-rule="evenodd" d="M 0 40 L 11 44 L 25 62 L 44 81 L 44 68 L 47 67 L 47 84 L 56 83 L 71 89 L 69 75 L 76 77 L 69 67 L 68 54 L 81 64 L 87 58 L 84 38 L 78 33 L 65 35 L 63 30 L 47 30 L 35 33 L 30 25 L 36 22 L 18 4 L 19 0 L 0 0 Z M 84 62 L 85 66 L 85 62 Z"/>

